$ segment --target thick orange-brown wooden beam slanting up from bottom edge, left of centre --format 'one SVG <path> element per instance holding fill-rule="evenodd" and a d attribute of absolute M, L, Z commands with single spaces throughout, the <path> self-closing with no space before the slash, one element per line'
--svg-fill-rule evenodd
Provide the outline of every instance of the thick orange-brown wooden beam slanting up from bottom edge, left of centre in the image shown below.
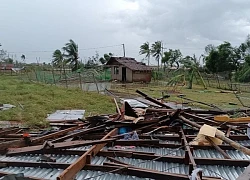
<path fill-rule="evenodd" d="M 118 129 L 113 129 L 106 136 L 104 136 L 101 140 L 106 140 L 110 136 L 116 135 Z M 91 156 L 95 156 L 106 143 L 94 145 L 87 152 L 85 152 L 77 161 L 72 163 L 67 169 L 65 169 L 58 177 L 57 180 L 72 180 L 75 175 L 87 164 L 91 161 Z M 89 156 L 90 155 L 90 156 Z M 87 159 L 90 158 L 90 159 Z"/>

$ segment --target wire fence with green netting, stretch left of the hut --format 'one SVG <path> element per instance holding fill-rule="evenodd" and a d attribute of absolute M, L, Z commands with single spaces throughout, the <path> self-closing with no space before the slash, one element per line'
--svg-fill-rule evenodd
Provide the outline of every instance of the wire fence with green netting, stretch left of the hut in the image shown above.
<path fill-rule="evenodd" d="M 19 72 L 5 71 L 4 75 L 15 75 L 23 81 L 38 82 L 60 87 L 76 87 L 84 91 L 104 91 L 109 88 L 111 72 L 109 69 L 82 69 L 72 72 L 71 69 L 29 68 Z"/>

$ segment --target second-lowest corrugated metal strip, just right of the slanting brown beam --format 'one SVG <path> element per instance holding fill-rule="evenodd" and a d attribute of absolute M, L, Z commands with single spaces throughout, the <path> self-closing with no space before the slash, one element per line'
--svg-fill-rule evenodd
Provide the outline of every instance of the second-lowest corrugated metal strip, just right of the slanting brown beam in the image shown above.
<path fill-rule="evenodd" d="M 136 167 L 140 168 L 147 168 L 176 174 L 188 174 L 188 166 L 185 164 L 133 159 L 126 157 L 116 157 L 115 159 L 127 164 L 135 165 Z M 107 161 L 106 157 L 96 156 L 93 157 L 91 164 L 102 165 L 105 161 Z"/>

